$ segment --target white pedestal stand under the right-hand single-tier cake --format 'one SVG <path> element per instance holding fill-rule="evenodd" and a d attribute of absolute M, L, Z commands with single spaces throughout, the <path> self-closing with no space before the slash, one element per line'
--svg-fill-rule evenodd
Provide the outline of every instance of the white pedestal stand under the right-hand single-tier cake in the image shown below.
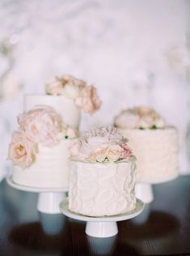
<path fill-rule="evenodd" d="M 178 177 L 176 175 L 175 177 L 169 177 L 164 180 L 159 180 L 158 182 L 154 181 L 141 181 L 137 182 L 135 185 L 135 194 L 136 197 L 141 199 L 143 203 L 151 203 L 154 200 L 154 193 L 153 193 L 153 188 L 152 185 L 154 184 L 160 184 L 168 181 L 173 181 L 175 178 Z"/>

